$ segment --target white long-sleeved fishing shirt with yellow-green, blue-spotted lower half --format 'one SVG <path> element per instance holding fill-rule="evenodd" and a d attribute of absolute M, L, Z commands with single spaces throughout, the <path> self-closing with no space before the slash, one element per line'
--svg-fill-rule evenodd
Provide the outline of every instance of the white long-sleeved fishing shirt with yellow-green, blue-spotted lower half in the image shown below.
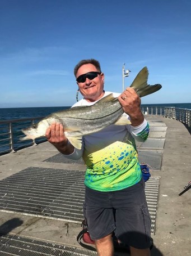
<path fill-rule="evenodd" d="M 104 96 L 109 93 L 105 92 Z M 74 106 L 84 105 L 92 103 L 83 99 Z M 66 157 L 77 159 L 82 156 L 87 166 L 87 187 L 99 191 L 122 190 L 133 186 L 142 177 L 134 138 L 145 141 L 148 133 L 149 125 L 146 120 L 138 127 L 110 125 L 100 132 L 84 136 L 82 149 L 75 149 L 73 154 Z"/>

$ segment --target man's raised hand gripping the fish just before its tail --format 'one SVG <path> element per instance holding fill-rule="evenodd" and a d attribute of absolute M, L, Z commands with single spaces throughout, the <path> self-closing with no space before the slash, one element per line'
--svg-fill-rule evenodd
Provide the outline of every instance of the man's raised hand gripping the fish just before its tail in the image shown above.
<path fill-rule="evenodd" d="M 133 88 L 128 87 L 118 97 L 120 104 L 123 107 L 124 113 L 128 114 L 131 118 L 132 126 L 136 127 L 142 124 L 144 116 L 141 112 L 141 99 Z"/>

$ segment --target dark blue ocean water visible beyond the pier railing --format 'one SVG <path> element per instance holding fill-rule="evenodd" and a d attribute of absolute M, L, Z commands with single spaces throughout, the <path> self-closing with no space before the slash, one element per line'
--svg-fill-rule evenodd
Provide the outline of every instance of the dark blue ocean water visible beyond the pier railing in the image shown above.
<path fill-rule="evenodd" d="M 22 118 L 41 118 L 54 113 L 59 110 L 68 109 L 70 106 L 60 106 L 60 107 L 15 107 L 15 108 L 0 108 L 0 121 L 10 120 L 10 119 L 22 119 Z M 155 114 L 156 107 L 158 109 L 165 107 L 177 107 L 182 109 L 191 109 L 191 103 L 174 103 L 174 104 L 142 104 L 141 108 L 146 111 L 146 107 L 151 109 L 153 107 Z M 37 120 L 35 120 L 36 122 Z M 31 140 L 20 141 L 19 138 L 24 134 L 21 132 L 22 128 L 29 127 L 31 125 L 30 121 L 23 121 L 18 123 L 13 123 L 13 144 L 14 149 L 18 150 L 22 147 L 30 146 Z M 0 123 L 0 155 L 6 152 L 10 152 L 10 146 L 8 145 L 8 125 Z M 46 138 L 40 138 L 36 140 L 36 143 L 45 141 Z"/>

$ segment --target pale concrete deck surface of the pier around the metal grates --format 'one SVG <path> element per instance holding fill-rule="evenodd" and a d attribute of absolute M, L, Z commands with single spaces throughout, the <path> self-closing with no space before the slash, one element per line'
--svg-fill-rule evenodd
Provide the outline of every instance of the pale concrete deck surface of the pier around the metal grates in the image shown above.
<path fill-rule="evenodd" d="M 152 256 L 186 256 L 191 254 L 191 190 L 183 195 L 179 193 L 191 180 L 191 139 L 185 126 L 173 119 L 162 116 L 146 115 L 148 122 L 163 123 L 167 129 L 157 138 L 164 141 L 160 170 L 152 170 L 151 176 L 160 176 L 159 194 L 157 199 L 155 234 L 152 235 L 154 246 Z M 157 126 L 157 125 L 156 125 Z M 153 138 L 155 136 L 152 135 Z M 151 150 L 137 143 L 139 150 Z M 27 147 L 15 153 L 0 156 L 0 181 L 29 167 L 52 168 L 65 170 L 85 170 L 85 165 L 56 163 L 44 161 L 58 151 L 49 142 L 37 146 Z M 0 198 L 4 195 L 0 195 Z M 22 214 L 1 209 L 0 205 L 0 233 L 30 237 L 59 244 L 80 248 L 76 241 L 81 231 L 81 224 L 69 221 L 39 217 L 38 215 Z M 7 243 L 8 244 L 8 243 Z M 0 251 L 4 244 L 0 236 Z M 2 249 L 3 251 L 3 249 Z M 0 253 L 1 255 L 1 253 Z M 20 255 L 20 254 L 2 254 Z M 32 254 L 30 254 L 32 255 Z M 34 254 L 38 255 L 38 254 Z M 42 254 L 53 255 L 53 254 Z M 64 254 L 65 255 L 65 254 Z M 78 255 L 78 254 L 66 254 Z M 86 252 L 86 254 L 93 255 Z M 128 253 L 115 253 L 128 255 Z"/>

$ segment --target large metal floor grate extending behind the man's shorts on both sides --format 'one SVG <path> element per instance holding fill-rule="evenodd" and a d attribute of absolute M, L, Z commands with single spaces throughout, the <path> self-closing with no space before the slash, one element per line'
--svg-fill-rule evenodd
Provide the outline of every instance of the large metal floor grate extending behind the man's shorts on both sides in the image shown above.
<path fill-rule="evenodd" d="M 0 181 L 0 211 L 81 223 L 85 171 L 29 167 Z M 154 186 L 153 186 L 154 184 Z M 159 177 L 146 182 L 154 232 Z M 152 200 L 151 200 L 152 199 Z"/>

